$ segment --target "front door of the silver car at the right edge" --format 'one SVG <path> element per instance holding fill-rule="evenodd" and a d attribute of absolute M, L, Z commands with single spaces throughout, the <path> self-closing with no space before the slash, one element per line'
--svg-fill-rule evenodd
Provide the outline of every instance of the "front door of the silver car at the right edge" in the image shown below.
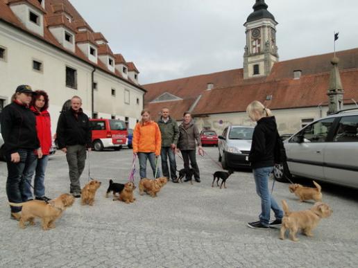
<path fill-rule="evenodd" d="M 326 118 L 307 125 L 286 144 L 291 174 L 324 179 L 323 155 L 333 121 L 334 118 Z"/>

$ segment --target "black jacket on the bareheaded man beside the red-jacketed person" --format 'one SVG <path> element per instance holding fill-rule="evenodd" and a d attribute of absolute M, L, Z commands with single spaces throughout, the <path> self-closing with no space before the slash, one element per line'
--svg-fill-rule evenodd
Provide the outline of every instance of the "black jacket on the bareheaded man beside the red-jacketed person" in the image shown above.
<path fill-rule="evenodd" d="M 77 117 L 73 109 L 63 111 L 58 118 L 56 135 L 60 149 L 68 145 L 86 145 L 87 148 L 92 146 L 92 130 L 88 116 L 82 109 Z"/>

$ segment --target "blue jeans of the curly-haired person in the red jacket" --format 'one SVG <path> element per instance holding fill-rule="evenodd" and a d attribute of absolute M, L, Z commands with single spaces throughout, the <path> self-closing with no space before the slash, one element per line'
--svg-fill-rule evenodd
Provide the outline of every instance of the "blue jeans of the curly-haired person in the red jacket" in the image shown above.
<path fill-rule="evenodd" d="M 42 158 L 37 159 L 37 165 L 31 166 L 31 168 L 26 173 L 25 179 L 31 183 L 33 178 L 33 173 L 35 173 L 35 180 L 33 183 L 33 194 L 35 197 L 44 197 L 44 173 L 46 171 L 47 161 L 49 161 L 49 156 L 44 155 Z M 33 199 L 33 194 L 31 193 L 30 184 L 24 184 L 24 196 L 26 199 Z"/>

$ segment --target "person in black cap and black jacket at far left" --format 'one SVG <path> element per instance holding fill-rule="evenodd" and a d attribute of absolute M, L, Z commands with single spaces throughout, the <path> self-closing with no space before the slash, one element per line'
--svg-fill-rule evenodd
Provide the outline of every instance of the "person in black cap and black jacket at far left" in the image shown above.
<path fill-rule="evenodd" d="M 3 108 L 0 116 L 8 179 L 6 194 L 12 203 L 26 202 L 23 195 L 24 184 L 31 166 L 36 165 L 37 157 L 42 157 L 40 142 L 36 133 L 36 118 L 29 109 L 34 91 L 28 85 L 17 87 L 12 103 Z M 37 156 L 35 154 L 37 150 Z M 11 219 L 19 220 L 21 207 L 10 206 Z"/>

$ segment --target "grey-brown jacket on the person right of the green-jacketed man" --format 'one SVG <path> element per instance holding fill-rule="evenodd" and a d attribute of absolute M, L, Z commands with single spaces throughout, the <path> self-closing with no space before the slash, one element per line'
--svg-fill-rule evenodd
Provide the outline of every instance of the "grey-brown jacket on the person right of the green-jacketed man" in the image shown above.
<path fill-rule="evenodd" d="M 185 129 L 184 125 L 181 124 L 179 126 L 179 133 L 179 150 L 195 150 L 195 141 L 198 143 L 199 146 L 201 146 L 201 139 L 198 127 L 196 127 L 193 120 L 191 120 L 190 126 L 187 129 Z"/>

